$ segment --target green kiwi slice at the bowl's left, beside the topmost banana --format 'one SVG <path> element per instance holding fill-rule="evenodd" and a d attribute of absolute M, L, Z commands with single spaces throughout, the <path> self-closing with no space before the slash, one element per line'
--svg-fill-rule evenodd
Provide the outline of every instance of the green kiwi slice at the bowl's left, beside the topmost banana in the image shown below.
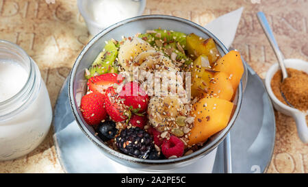
<path fill-rule="evenodd" d="M 86 75 L 86 78 L 90 79 L 90 77 L 93 77 L 95 74 L 102 75 L 104 73 L 117 73 L 118 67 L 116 66 L 116 63 L 114 63 L 117 56 L 118 48 L 113 40 L 109 40 L 103 48 L 103 51 L 99 53 L 92 63 L 92 66 L 90 66 L 90 75 Z"/>

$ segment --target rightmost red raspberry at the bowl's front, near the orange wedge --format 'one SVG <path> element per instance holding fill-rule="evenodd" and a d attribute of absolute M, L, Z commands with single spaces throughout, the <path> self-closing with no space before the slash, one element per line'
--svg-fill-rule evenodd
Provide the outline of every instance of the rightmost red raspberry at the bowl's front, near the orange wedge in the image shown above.
<path fill-rule="evenodd" d="M 170 136 L 170 139 L 164 141 L 162 145 L 162 153 L 166 158 L 172 155 L 176 155 L 179 158 L 184 153 L 184 143 L 177 136 Z"/>

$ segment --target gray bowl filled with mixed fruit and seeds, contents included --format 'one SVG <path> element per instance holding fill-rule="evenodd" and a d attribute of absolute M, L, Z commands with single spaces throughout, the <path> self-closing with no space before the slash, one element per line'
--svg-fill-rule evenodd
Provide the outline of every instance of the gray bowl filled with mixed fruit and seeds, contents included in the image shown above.
<path fill-rule="evenodd" d="M 240 53 L 203 27 L 139 16 L 108 27 L 81 51 L 70 104 L 81 130 L 112 160 L 170 169 L 224 139 L 240 110 L 243 73 Z"/>

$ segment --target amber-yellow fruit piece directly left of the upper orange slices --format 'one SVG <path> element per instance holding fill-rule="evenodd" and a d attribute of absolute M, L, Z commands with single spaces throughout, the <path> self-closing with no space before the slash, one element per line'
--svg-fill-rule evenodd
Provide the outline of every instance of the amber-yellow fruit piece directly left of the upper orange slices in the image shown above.
<path fill-rule="evenodd" d="M 196 97 L 207 92 L 209 88 L 209 82 L 214 73 L 211 72 L 209 67 L 209 60 L 206 55 L 200 55 L 194 60 L 192 66 L 192 97 Z"/>

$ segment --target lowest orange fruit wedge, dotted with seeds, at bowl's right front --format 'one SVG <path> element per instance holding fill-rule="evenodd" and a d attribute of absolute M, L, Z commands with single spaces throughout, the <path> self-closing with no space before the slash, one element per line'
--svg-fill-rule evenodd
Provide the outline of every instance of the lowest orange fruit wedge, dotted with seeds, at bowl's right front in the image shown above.
<path fill-rule="evenodd" d="M 233 103 L 215 97 L 203 98 L 194 103 L 194 127 L 190 131 L 188 145 L 205 142 L 207 138 L 227 127 L 232 109 Z"/>

